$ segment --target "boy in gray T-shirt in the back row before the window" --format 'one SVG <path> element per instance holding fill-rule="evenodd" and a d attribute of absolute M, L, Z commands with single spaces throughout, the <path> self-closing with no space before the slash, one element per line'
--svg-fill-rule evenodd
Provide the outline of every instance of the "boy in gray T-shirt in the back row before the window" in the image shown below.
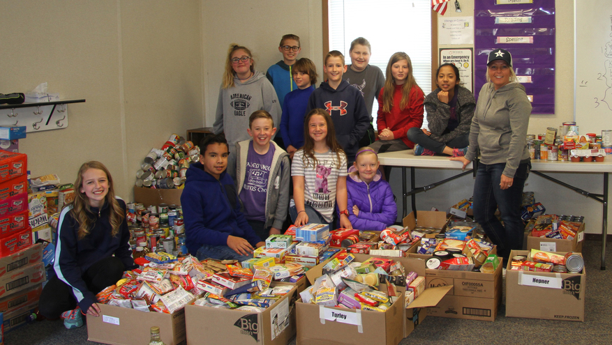
<path fill-rule="evenodd" d="M 374 142 L 374 126 L 372 125 L 372 106 L 374 98 L 378 100 L 380 90 L 385 86 L 385 75 L 378 66 L 370 65 L 370 56 L 372 54 L 372 46 L 370 42 L 363 37 L 355 38 L 350 43 L 349 56 L 351 64 L 348 66 L 343 78 L 351 86 L 356 87 L 361 91 L 366 101 L 366 108 L 370 116 L 370 125 L 368 131 L 361 138 L 359 146 L 368 146 Z"/>

